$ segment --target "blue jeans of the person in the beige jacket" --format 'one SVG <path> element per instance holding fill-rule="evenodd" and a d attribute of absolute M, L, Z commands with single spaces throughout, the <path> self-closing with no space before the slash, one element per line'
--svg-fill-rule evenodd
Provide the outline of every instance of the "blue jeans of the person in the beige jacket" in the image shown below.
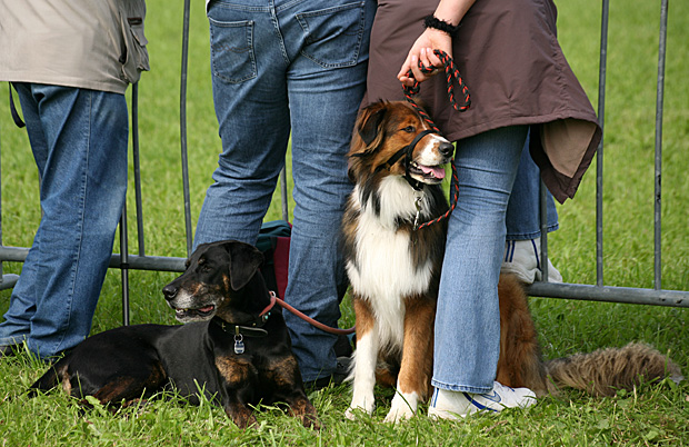
<path fill-rule="evenodd" d="M 123 95 L 16 83 L 43 216 L 0 325 L 0 345 L 42 358 L 83 340 L 127 191 Z"/>

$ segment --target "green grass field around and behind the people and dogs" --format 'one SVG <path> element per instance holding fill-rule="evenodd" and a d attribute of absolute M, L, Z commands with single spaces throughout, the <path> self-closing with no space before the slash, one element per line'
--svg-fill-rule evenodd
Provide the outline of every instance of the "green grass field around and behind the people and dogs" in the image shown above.
<path fill-rule="evenodd" d="M 605 135 L 605 282 L 652 287 L 653 141 L 659 8 L 658 2 L 611 2 Z M 600 2 L 561 1 L 559 37 L 565 52 L 596 105 Z M 140 82 L 141 177 L 146 252 L 186 256 L 179 143 L 179 71 L 182 2 L 149 0 L 147 34 L 152 71 Z M 689 3 L 671 2 L 666 68 L 662 196 L 662 287 L 689 290 Z M 189 71 L 189 168 L 192 222 L 196 224 L 220 141 L 212 107 L 208 23 L 202 2 L 192 2 Z M 7 98 L 7 85 L 0 98 Z M 7 100 L 4 100 L 7 101 Z M 4 102 L 7 105 L 7 102 Z M 4 106 L 7 107 L 7 106 Z M 40 219 L 38 179 L 26 132 L 6 108 L 0 113 L 2 149 L 2 238 L 29 247 Z M 561 229 L 551 234 L 550 254 L 565 279 L 596 284 L 595 169 L 575 200 L 559 207 Z M 130 176 L 130 179 L 133 175 Z M 133 191 L 133 183 L 131 191 Z M 130 246 L 137 251 L 133 195 L 129 198 Z M 291 199 L 290 199 L 291 200 Z M 293 203 L 290 202 L 290 209 Z M 268 219 L 280 218 L 278 200 Z M 117 246 L 119 247 L 119 245 Z M 19 272 L 21 265 L 3 265 Z M 174 274 L 130 272 L 132 322 L 174 324 L 160 289 Z M 0 311 L 9 304 L 0 294 Z M 686 309 L 559 299 L 531 300 L 548 358 L 622 346 L 653 344 L 682 367 L 689 366 L 689 314 Z M 346 304 L 343 325 L 353 322 Z M 106 279 L 93 332 L 121 321 L 120 271 Z M 407 424 L 382 423 L 389 391 L 371 418 L 343 420 L 347 386 L 311 395 L 324 428 L 303 429 L 271 408 L 259 427 L 238 430 L 220 408 L 193 407 L 177 399 L 110 415 L 102 408 L 80 413 L 61 393 L 28 399 L 27 387 L 43 366 L 29 356 L 0 361 L 0 439 L 2 446 L 168 446 L 168 445 L 689 445 L 689 386 L 643 385 L 611 398 L 580 393 L 545 398 L 529 410 L 461 423 L 435 423 L 420 416 Z"/>

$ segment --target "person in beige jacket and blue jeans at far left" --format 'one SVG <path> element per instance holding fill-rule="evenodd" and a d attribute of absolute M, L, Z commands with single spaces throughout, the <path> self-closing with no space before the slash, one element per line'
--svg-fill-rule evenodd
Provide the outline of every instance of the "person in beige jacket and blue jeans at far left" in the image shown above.
<path fill-rule="evenodd" d="M 21 102 L 43 212 L 0 349 L 26 342 L 47 359 L 89 335 L 112 254 L 127 191 L 124 91 L 148 70 L 146 4 L 0 0 L 0 80 Z"/>

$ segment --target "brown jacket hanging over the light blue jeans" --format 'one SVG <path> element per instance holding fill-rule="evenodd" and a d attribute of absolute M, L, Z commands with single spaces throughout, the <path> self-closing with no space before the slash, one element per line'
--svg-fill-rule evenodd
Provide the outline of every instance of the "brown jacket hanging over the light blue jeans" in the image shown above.
<path fill-rule="evenodd" d="M 397 72 L 438 0 L 379 0 L 365 101 L 403 99 Z M 531 155 L 560 202 L 575 196 L 601 138 L 596 112 L 556 37 L 549 0 L 477 0 L 453 40 L 453 59 L 471 95 L 455 111 L 442 74 L 421 85 L 420 100 L 451 141 L 531 125 Z M 540 136 L 540 138 L 533 138 Z"/>

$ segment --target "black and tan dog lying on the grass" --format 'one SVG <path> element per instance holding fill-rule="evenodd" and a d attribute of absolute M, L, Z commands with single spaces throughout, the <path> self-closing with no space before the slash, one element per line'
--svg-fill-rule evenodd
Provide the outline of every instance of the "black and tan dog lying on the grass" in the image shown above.
<path fill-rule="evenodd" d="M 249 405 L 259 403 L 287 404 L 304 426 L 318 428 L 284 319 L 257 274 L 262 260 L 243 242 L 201 245 L 187 271 L 163 288 L 187 325 L 128 326 L 87 338 L 32 394 L 61 385 L 72 396 L 126 406 L 173 386 L 193 404 L 200 393 L 220 403 L 241 428 L 256 421 Z"/>

